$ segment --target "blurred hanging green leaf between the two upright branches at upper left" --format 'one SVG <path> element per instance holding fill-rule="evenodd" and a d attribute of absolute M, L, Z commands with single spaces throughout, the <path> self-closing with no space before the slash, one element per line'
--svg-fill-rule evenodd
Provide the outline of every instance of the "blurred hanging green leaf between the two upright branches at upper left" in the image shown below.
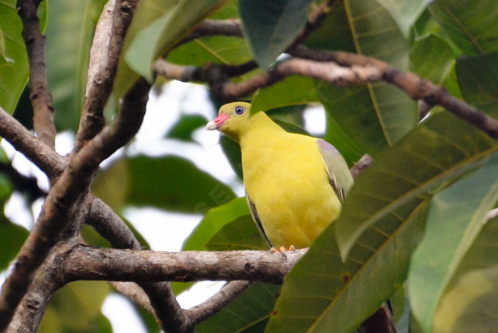
<path fill-rule="evenodd" d="M 58 130 L 76 131 L 85 100 L 90 46 L 98 0 L 51 0 L 47 24 L 45 57 L 48 88 L 53 97 Z M 42 2 L 43 3 L 43 2 Z"/>

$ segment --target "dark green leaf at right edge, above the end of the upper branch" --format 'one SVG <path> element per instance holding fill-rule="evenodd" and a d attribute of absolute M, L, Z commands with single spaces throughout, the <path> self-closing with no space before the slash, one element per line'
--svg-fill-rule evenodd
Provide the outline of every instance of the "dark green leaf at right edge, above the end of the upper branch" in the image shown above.
<path fill-rule="evenodd" d="M 498 117 L 498 52 L 460 58 L 456 64 L 458 85 L 465 100 Z"/>

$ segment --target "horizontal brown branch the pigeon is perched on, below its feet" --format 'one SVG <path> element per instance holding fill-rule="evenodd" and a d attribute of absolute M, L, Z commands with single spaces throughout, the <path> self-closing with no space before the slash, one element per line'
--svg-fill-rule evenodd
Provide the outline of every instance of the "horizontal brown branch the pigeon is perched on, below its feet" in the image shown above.
<path fill-rule="evenodd" d="M 200 281 L 251 280 L 282 283 L 306 250 L 181 251 L 97 249 L 76 246 L 64 254 L 62 269 L 68 281 Z"/>

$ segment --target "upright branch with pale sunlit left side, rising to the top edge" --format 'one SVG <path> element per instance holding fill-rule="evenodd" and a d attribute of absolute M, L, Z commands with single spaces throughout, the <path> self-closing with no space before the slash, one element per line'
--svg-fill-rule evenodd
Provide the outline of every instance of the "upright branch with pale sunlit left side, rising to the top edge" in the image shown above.
<path fill-rule="evenodd" d="M 105 125 L 104 105 L 113 88 L 124 35 L 137 3 L 138 0 L 111 0 L 102 11 L 90 50 L 85 105 L 73 152 L 78 152 Z"/>

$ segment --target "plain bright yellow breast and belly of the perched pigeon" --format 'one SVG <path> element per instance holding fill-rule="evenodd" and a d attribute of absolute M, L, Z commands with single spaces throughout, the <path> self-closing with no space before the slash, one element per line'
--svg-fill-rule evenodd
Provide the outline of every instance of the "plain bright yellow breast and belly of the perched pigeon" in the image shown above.
<path fill-rule="evenodd" d="M 275 248 L 309 247 L 339 215 L 341 203 L 316 140 L 284 131 L 261 131 L 240 142 L 244 185 Z"/>

